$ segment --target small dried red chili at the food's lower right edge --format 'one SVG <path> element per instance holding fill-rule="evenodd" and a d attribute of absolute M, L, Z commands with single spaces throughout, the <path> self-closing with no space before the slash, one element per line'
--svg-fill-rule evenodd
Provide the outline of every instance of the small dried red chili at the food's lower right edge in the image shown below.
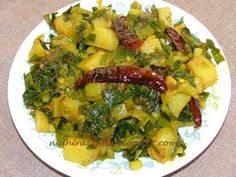
<path fill-rule="evenodd" d="M 194 98 L 191 98 L 189 102 L 189 107 L 192 112 L 193 118 L 194 118 L 194 123 L 195 123 L 195 128 L 201 126 L 202 124 L 202 114 L 200 111 L 200 108 L 197 106 L 196 100 Z"/>

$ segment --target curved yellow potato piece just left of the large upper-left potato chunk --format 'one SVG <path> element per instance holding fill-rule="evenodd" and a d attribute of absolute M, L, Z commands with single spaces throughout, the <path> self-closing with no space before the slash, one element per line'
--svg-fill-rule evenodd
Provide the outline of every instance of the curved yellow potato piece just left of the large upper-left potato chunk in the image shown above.
<path fill-rule="evenodd" d="M 79 55 L 79 50 L 76 48 L 75 43 L 65 35 L 59 35 L 51 40 L 51 47 L 54 48 L 57 46 L 60 46 L 64 50 L 70 51 L 75 56 Z"/>

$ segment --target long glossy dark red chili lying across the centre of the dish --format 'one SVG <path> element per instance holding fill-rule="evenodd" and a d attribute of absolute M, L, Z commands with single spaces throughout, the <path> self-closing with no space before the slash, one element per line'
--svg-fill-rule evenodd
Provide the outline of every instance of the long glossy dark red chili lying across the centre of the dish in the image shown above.
<path fill-rule="evenodd" d="M 91 82 L 132 83 L 149 86 L 159 92 L 167 90 L 163 77 L 151 70 L 133 66 L 100 67 L 85 73 L 75 81 L 81 88 Z"/>

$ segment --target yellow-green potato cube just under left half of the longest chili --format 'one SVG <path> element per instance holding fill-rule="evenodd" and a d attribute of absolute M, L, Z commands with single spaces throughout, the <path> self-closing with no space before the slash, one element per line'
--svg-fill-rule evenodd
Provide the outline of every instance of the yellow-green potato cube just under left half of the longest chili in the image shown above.
<path fill-rule="evenodd" d="M 102 91 L 105 87 L 104 83 L 89 83 L 84 87 L 85 96 L 89 101 L 96 101 L 102 98 Z"/>

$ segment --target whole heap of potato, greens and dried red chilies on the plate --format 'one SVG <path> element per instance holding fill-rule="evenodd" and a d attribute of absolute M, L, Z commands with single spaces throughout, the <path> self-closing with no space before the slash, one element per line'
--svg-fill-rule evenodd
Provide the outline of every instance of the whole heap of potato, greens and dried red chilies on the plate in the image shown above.
<path fill-rule="evenodd" d="M 201 126 L 204 90 L 224 61 L 212 40 L 198 39 L 184 19 L 173 23 L 170 8 L 138 2 L 127 15 L 77 4 L 44 19 L 51 34 L 33 42 L 23 100 L 66 160 L 86 166 L 122 152 L 136 169 L 141 157 L 184 155 L 178 128 Z"/>

